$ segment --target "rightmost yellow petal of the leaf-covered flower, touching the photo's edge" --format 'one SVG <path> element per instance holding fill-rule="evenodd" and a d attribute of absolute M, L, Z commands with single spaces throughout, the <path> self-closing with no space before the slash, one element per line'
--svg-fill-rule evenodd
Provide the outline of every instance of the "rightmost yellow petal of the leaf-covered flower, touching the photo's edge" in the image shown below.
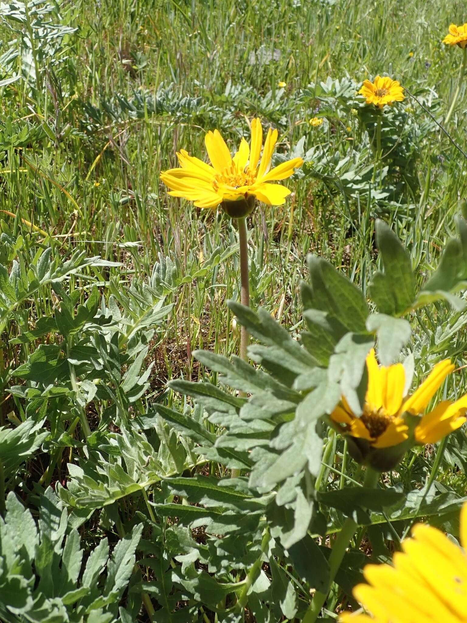
<path fill-rule="evenodd" d="M 417 444 L 435 444 L 446 435 L 460 428 L 466 421 L 467 396 L 456 402 L 440 402 L 433 411 L 422 417 L 415 427 Z"/>

